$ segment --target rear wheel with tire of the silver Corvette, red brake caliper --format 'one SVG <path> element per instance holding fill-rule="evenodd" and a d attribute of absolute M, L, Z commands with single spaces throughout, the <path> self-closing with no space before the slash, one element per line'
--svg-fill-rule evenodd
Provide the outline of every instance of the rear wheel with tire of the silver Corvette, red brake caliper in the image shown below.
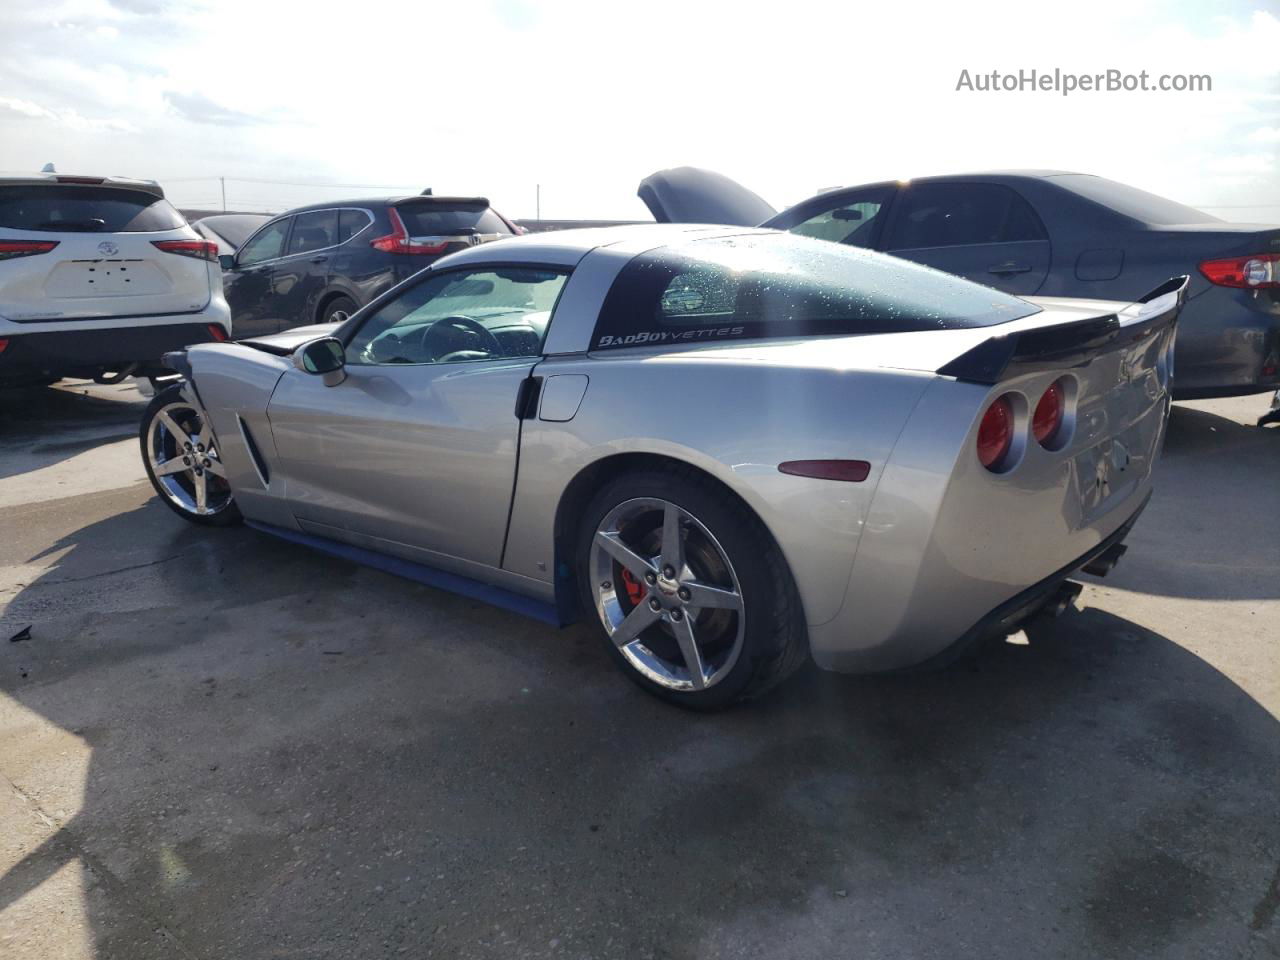
<path fill-rule="evenodd" d="M 579 538 L 584 607 L 623 671 L 664 700 L 717 709 L 808 658 L 781 552 L 759 520 L 694 471 L 609 483 Z"/>

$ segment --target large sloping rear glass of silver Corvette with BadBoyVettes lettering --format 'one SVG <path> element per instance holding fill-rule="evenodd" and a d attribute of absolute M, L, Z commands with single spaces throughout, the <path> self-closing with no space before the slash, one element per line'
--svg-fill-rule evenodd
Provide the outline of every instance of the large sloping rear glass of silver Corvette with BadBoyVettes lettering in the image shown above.
<path fill-rule="evenodd" d="M 959 276 L 794 234 L 694 241 L 622 269 L 593 349 L 989 326 L 1039 307 Z"/>

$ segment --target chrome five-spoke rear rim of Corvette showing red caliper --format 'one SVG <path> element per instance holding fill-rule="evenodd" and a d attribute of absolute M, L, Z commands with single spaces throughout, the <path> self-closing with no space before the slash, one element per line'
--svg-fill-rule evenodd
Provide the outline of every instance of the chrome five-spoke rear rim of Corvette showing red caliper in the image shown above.
<path fill-rule="evenodd" d="M 600 622 L 627 662 L 669 690 L 714 686 L 742 653 L 742 589 L 719 541 L 682 507 L 637 498 L 596 527 Z"/>

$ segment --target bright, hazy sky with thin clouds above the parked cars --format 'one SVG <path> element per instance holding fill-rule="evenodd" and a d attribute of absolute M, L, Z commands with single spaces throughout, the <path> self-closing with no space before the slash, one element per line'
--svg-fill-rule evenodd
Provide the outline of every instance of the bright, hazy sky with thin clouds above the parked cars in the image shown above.
<path fill-rule="evenodd" d="M 157 179 L 187 207 L 220 206 L 225 177 L 233 210 L 430 186 L 515 218 L 648 219 L 640 180 L 685 164 L 778 209 L 1052 168 L 1280 221 L 1280 0 L 1041 9 L 0 0 L 0 172 Z M 1212 91 L 956 90 L 1033 68 Z"/>

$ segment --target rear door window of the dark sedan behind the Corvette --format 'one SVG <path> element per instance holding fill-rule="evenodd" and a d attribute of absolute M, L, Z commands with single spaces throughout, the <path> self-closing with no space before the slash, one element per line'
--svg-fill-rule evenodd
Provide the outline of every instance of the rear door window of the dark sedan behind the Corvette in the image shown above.
<path fill-rule="evenodd" d="M 886 250 L 1047 239 L 1030 204 L 996 183 L 902 188 Z"/>

